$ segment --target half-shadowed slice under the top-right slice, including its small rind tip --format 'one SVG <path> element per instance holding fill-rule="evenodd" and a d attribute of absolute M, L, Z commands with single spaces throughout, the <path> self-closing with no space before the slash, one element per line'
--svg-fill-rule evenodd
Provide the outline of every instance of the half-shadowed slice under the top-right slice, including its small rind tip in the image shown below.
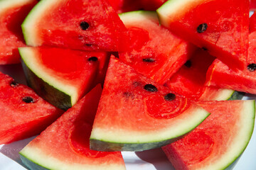
<path fill-rule="evenodd" d="M 237 91 L 205 86 L 206 72 L 213 60 L 215 57 L 198 48 L 193 57 L 166 82 L 165 86 L 193 101 L 241 99 L 243 95 Z"/>

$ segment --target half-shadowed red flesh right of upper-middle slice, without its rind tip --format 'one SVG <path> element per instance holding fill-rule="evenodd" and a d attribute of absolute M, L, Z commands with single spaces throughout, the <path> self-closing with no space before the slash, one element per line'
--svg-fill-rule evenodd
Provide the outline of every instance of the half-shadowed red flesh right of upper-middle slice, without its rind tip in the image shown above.
<path fill-rule="evenodd" d="M 204 86 L 204 84 L 206 81 L 206 72 L 213 60 L 215 60 L 215 57 L 209 55 L 208 52 L 201 49 L 196 50 L 193 57 L 165 85 L 186 98 L 198 101 L 204 92 L 211 89 Z M 214 89 L 213 91 L 217 93 L 218 90 Z"/>

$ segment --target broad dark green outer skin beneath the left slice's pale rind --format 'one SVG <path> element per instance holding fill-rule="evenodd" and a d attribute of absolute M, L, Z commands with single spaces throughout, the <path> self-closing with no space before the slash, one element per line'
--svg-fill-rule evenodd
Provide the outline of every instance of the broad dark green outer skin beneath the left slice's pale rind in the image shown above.
<path fill-rule="evenodd" d="M 43 79 L 36 76 L 36 74 L 34 74 L 31 69 L 26 66 L 26 63 L 23 60 L 21 60 L 21 64 L 23 67 L 23 72 L 26 76 L 28 86 L 36 91 L 39 96 L 41 96 L 53 106 L 63 109 L 64 111 L 68 110 L 68 108 L 71 108 L 71 97 L 69 95 L 59 91 L 58 89 L 55 89 L 55 87 L 50 86 L 50 84 L 48 84 L 46 81 L 43 81 Z"/>

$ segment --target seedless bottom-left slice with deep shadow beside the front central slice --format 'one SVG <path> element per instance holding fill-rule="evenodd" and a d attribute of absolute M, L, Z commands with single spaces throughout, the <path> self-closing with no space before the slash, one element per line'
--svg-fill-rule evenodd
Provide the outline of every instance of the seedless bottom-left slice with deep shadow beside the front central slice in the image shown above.
<path fill-rule="evenodd" d="M 46 169 L 125 169 L 121 152 L 89 149 L 90 131 L 101 92 L 101 87 L 96 86 L 26 145 L 20 152 L 23 163 L 30 169 L 36 166 L 29 162 Z"/>

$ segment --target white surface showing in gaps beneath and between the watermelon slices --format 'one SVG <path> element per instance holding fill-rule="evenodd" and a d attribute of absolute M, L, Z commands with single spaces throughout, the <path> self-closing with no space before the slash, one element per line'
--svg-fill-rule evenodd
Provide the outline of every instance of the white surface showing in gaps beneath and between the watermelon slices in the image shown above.
<path fill-rule="evenodd" d="M 0 72 L 9 74 L 16 81 L 26 84 L 21 64 L 0 66 Z M 247 95 L 244 99 L 256 99 L 256 96 Z M 234 170 L 256 170 L 256 130 L 254 130 L 247 149 L 238 160 Z M 18 152 L 33 140 L 34 137 L 9 145 L 0 145 L 0 170 L 26 170 L 19 158 Z M 172 170 L 161 149 L 152 149 L 144 152 L 122 152 L 127 170 Z"/>

